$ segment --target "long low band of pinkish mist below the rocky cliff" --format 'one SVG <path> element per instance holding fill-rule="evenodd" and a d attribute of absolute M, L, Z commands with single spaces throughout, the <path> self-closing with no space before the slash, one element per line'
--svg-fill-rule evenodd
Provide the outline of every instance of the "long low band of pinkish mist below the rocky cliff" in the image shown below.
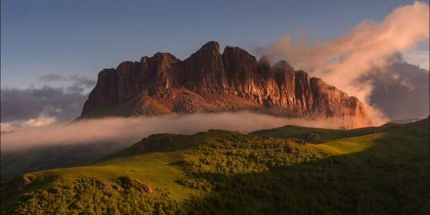
<path fill-rule="evenodd" d="M 317 128 L 340 128 L 348 119 L 291 119 L 249 111 L 195 113 L 165 117 L 86 119 L 72 123 L 26 128 L 1 134 L 1 150 L 22 150 L 40 146 L 91 144 L 115 141 L 130 145 L 155 133 L 193 134 L 209 129 L 242 133 L 287 124 Z"/>

